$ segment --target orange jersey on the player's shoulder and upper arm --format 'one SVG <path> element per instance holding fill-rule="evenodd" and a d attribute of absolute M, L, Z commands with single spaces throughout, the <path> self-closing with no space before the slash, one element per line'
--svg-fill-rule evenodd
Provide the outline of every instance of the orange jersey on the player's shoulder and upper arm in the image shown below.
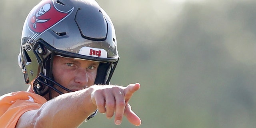
<path fill-rule="evenodd" d="M 0 128 L 15 128 L 24 112 L 39 109 L 45 102 L 42 96 L 25 91 L 0 96 Z"/>

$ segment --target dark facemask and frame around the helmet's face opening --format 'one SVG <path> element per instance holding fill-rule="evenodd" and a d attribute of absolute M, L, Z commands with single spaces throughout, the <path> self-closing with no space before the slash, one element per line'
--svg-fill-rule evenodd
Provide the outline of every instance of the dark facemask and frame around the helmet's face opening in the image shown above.
<path fill-rule="evenodd" d="M 36 92 L 36 94 L 40 94 L 41 96 L 49 94 L 50 99 L 52 98 L 52 96 L 50 95 L 51 91 L 56 91 L 59 94 L 63 94 L 63 92 L 58 90 L 55 86 L 58 86 L 67 92 L 72 92 L 68 88 L 65 88 L 58 82 L 54 81 L 54 76 L 52 75 L 54 56 L 88 60 L 86 59 L 86 57 L 79 54 L 56 50 L 55 48 L 44 42 L 44 40 L 38 40 L 36 42 L 36 45 L 34 46 L 34 54 L 36 55 L 38 64 L 40 65 L 40 72 L 33 83 L 33 90 L 34 92 Z M 109 62 L 100 62 L 94 84 L 110 84 L 110 79 L 112 77 L 114 69 L 116 68 L 117 62 L 118 60 L 115 62 L 112 62 L 111 60 Z"/>

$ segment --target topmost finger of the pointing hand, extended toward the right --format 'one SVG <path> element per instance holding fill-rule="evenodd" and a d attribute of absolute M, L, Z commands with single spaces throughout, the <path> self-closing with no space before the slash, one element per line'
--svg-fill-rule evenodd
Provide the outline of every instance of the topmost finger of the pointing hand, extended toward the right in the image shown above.
<path fill-rule="evenodd" d="M 137 90 L 140 89 L 140 84 L 129 84 L 125 89 L 124 89 L 124 100 L 127 103 L 130 98 L 132 97 L 132 94 L 136 92 Z"/>

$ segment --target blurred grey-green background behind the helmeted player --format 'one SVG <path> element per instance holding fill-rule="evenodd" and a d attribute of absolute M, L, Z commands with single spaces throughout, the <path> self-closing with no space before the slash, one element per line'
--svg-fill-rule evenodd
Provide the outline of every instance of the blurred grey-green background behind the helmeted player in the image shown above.
<path fill-rule="evenodd" d="M 1 1 L 0 95 L 27 88 L 17 55 L 23 22 L 39 1 Z M 255 0 L 97 2 L 116 28 L 112 84 L 141 84 L 130 100 L 138 128 L 255 128 Z M 136 126 L 98 114 L 79 128 Z"/>

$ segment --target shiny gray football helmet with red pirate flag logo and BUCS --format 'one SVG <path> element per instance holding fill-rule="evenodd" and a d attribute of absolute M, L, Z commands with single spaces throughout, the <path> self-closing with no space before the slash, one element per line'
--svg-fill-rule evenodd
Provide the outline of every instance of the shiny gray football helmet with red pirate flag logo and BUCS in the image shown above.
<path fill-rule="evenodd" d="M 18 56 L 26 84 L 44 96 L 54 86 L 54 56 L 100 62 L 95 84 L 109 84 L 119 55 L 112 21 L 94 0 L 42 0 L 28 14 Z"/>

